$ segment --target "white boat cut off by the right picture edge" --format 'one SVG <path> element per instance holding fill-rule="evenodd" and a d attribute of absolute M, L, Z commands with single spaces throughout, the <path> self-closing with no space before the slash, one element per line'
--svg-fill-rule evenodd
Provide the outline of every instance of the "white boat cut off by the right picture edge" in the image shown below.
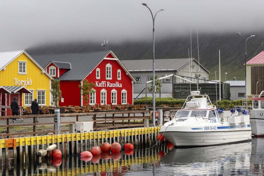
<path fill-rule="evenodd" d="M 253 106 L 250 111 L 250 124 L 252 134 L 264 137 L 264 91 L 257 98 L 251 98 Z"/>

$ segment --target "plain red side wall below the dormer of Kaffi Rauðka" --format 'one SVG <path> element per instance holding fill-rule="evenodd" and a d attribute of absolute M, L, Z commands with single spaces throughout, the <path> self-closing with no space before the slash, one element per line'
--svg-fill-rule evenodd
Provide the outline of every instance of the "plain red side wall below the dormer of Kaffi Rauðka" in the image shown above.
<path fill-rule="evenodd" d="M 60 81 L 60 90 L 64 102 L 59 102 L 59 106 L 81 106 L 81 93 L 79 81 Z"/>

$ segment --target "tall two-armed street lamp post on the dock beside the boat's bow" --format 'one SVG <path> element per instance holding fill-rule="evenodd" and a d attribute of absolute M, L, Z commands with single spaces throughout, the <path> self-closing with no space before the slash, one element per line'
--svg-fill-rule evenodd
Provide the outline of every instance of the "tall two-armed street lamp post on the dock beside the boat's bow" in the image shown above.
<path fill-rule="evenodd" d="M 154 35 L 154 22 L 155 22 L 155 17 L 157 15 L 158 12 L 160 11 L 163 11 L 165 9 L 160 9 L 159 11 L 157 11 L 155 13 L 155 16 L 153 18 L 153 14 L 152 14 L 152 11 L 150 10 L 150 8 L 147 6 L 146 3 L 142 3 L 143 6 L 146 6 L 150 13 L 151 13 L 151 16 L 152 16 L 152 20 L 153 20 L 153 79 L 152 79 L 152 89 L 153 89 L 153 92 L 152 92 L 152 95 L 153 95 L 153 103 L 152 103 L 152 109 L 153 109 L 153 113 L 152 113 L 152 121 L 153 121 L 153 126 L 155 126 L 155 35 Z"/>

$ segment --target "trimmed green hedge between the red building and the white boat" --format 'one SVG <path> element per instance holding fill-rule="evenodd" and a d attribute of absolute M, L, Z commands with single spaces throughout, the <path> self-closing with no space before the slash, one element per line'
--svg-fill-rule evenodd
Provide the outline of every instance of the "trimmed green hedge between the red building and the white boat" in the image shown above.
<path fill-rule="evenodd" d="M 152 104 L 152 97 L 142 97 L 140 99 L 135 99 L 134 104 Z M 175 99 L 172 97 L 164 97 L 164 98 L 155 98 L 155 105 L 161 106 L 162 104 L 168 104 L 170 106 L 174 106 L 176 104 L 181 104 L 185 102 L 185 99 Z"/>

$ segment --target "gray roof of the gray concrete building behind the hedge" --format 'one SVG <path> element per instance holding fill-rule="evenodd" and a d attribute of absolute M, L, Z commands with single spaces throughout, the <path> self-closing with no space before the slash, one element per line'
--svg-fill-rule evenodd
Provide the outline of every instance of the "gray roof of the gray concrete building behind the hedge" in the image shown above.
<path fill-rule="evenodd" d="M 192 61 L 196 61 L 196 60 L 194 58 L 192 58 Z M 121 60 L 121 62 L 125 65 L 125 67 L 130 72 L 153 71 L 153 66 L 152 66 L 153 60 L 152 59 Z M 184 65 L 186 65 L 188 63 L 189 63 L 188 58 L 183 58 L 183 59 L 155 59 L 155 71 L 179 70 L 180 68 L 182 68 Z M 204 67 L 202 67 L 202 68 L 204 68 Z M 208 72 L 208 70 L 206 70 L 206 71 Z"/>

